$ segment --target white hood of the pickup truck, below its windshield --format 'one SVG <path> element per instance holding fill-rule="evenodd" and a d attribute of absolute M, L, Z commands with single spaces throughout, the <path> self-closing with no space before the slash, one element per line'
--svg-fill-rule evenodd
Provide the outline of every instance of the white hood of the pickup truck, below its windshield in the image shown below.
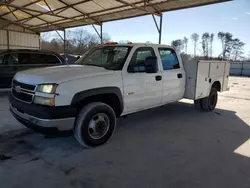
<path fill-rule="evenodd" d="M 112 74 L 114 71 L 86 65 L 61 65 L 18 72 L 14 79 L 28 84 L 57 83 L 90 76 Z"/>

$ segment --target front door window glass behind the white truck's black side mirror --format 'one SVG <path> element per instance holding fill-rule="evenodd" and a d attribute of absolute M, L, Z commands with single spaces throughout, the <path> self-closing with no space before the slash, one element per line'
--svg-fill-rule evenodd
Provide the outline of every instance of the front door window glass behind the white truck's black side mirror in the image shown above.
<path fill-rule="evenodd" d="M 130 60 L 127 71 L 131 73 L 145 72 L 145 59 L 150 56 L 155 56 L 153 48 L 151 47 L 137 48 Z"/>

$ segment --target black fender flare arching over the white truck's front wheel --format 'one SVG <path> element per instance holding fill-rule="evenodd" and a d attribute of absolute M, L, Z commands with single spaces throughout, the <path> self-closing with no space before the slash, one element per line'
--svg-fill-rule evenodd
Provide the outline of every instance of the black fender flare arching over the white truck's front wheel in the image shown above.
<path fill-rule="evenodd" d="M 84 100 L 85 98 L 98 94 L 115 94 L 120 101 L 120 107 L 121 107 L 120 110 L 121 112 L 123 112 L 124 109 L 123 96 L 120 88 L 118 87 L 100 87 L 78 92 L 74 95 L 71 101 L 71 106 L 76 106 L 80 101 Z"/>

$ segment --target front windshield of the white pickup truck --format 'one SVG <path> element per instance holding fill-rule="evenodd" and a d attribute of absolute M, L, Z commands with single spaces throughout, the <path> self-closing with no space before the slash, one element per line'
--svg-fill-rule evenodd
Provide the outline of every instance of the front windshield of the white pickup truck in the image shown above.
<path fill-rule="evenodd" d="M 110 70 L 122 70 L 130 49 L 129 46 L 98 46 L 91 49 L 75 63 Z"/>

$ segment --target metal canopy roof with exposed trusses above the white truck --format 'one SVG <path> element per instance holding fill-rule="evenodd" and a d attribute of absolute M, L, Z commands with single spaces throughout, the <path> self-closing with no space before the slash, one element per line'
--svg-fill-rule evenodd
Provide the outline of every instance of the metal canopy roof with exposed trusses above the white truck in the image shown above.
<path fill-rule="evenodd" d="M 0 29 L 60 30 L 230 0 L 2 0 Z"/>

